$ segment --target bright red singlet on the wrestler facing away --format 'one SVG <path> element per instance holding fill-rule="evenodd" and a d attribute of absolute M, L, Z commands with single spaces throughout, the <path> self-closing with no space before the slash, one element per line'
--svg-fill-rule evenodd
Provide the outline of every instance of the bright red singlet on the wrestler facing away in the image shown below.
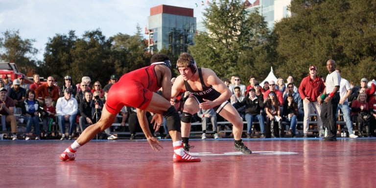
<path fill-rule="evenodd" d="M 154 70 L 154 67 L 159 64 L 163 62 L 153 63 L 121 76 L 108 92 L 107 111 L 117 114 L 123 106 L 133 106 L 144 110 L 149 105 L 153 92 L 161 88 L 155 79 L 157 76 Z"/>

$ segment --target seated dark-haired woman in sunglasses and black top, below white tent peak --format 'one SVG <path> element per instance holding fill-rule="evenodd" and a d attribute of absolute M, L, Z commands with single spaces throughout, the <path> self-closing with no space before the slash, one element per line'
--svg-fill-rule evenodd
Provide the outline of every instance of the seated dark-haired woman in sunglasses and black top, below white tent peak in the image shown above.
<path fill-rule="evenodd" d="M 282 117 L 281 117 L 281 104 L 277 99 L 277 95 L 274 91 L 271 91 L 265 100 L 265 113 L 266 121 L 270 125 L 271 137 L 276 138 L 276 133 L 274 131 L 274 122 L 278 122 L 279 134 L 277 137 L 284 136 L 284 128 L 282 126 Z"/>

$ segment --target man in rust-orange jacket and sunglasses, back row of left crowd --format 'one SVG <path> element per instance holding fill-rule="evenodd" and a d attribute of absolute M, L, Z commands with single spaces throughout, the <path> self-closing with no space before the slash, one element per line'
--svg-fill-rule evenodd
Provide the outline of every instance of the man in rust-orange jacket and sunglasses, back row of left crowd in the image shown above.
<path fill-rule="evenodd" d="M 54 103 L 56 103 L 57 99 L 59 98 L 59 87 L 53 85 L 53 82 L 53 77 L 48 76 L 47 83 L 42 84 L 35 90 L 35 96 L 39 96 L 37 100 L 41 105 L 44 105 L 46 96 L 50 96 Z"/>

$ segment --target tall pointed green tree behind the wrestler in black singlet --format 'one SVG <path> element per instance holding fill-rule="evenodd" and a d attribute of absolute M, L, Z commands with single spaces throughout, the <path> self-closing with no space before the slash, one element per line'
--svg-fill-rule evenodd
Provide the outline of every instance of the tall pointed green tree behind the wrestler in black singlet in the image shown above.
<path fill-rule="evenodd" d="M 266 76 L 273 62 L 268 53 L 273 50 L 268 50 L 270 31 L 258 13 L 250 14 L 241 0 L 219 0 L 203 15 L 207 32 L 199 32 L 195 45 L 188 48 L 198 66 L 211 68 L 218 77 Z"/>

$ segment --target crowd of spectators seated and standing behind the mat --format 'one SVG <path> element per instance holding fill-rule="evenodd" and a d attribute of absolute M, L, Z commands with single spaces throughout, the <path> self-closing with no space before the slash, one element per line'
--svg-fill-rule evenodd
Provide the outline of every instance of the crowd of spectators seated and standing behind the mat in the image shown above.
<path fill-rule="evenodd" d="M 340 74 L 339 69 L 336 71 Z M 6 75 L 2 77 L 0 82 L 1 125 L 2 133 L 5 133 L 9 139 L 75 139 L 85 128 L 98 121 L 108 91 L 118 81 L 118 77 L 111 75 L 103 89 L 99 81 L 94 81 L 91 85 L 92 80 L 88 76 L 82 77 L 80 83 L 73 84 L 71 76 L 67 75 L 61 86 L 57 85 L 52 76 L 48 76 L 47 80 L 41 83 L 40 76 L 34 74 L 33 81 L 32 84 L 25 84 L 24 75 L 19 75 L 13 81 Z M 171 81 L 173 83 L 174 78 Z M 229 102 L 235 107 L 243 121 L 246 121 L 244 137 L 282 138 L 286 136 L 285 134 L 297 137 L 298 122 L 303 124 L 302 137 L 308 137 L 312 114 L 316 114 L 313 118 L 317 121 L 317 131 L 320 137 L 324 136 L 323 121 L 320 118 L 322 108 L 320 97 L 323 97 L 326 83 L 323 78 L 317 76 L 315 66 L 309 67 L 308 75 L 302 79 L 299 86 L 294 84 L 292 75 L 286 78 L 286 82 L 283 78 L 278 78 L 276 81 L 265 80 L 261 84 L 255 75 L 251 75 L 248 81 L 249 84 L 246 86 L 241 83 L 237 75 L 232 76 L 230 80 L 223 79 L 233 94 Z M 348 130 L 349 137 L 375 137 L 375 80 L 368 82 L 367 78 L 362 78 L 360 86 L 354 86 L 354 83 L 341 78 L 338 93 L 340 100 L 337 112 L 342 114 L 346 122 L 344 128 Z M 188 96 L 189 92 L 181 91 L 175 99 L 175 109 L 180 114 L 183 112 L 183 104 Z M 135 108 L 125 106 L 119 115 L 121 118 L 117 118 L 114 123 L 120 125 L 106 129 L 102 137 L 108 140 L 118 139 L 117 135 L 112 132 L 124 130 L 128 123 L 130 139 L 136 139 L 136 132 L 141 128 L 137 122 Z M 152 114 L 148 114 L 149 119 L 151 116 Z M 200 129 L 202 139 L 209 137 L 208 128 L 213 132 L 212 137 L 218 139 L 221 127 L 217 122 L 221 119 L 213 109 L 200 109 L 192 118 L 192 122 L 202 122 L 202 129 Z M 255 122 L 258 123 L 255 124 Z M 22 132 L 20 134 L 18 133 L 19 123 L 25 124 L 25 131 L 20 131 Z M 152 127 L 150 124 L 150 130 L 153 130 Z M 259 134 L 255 134 L 256 130 Z M 9 132 L 10 134 L 7 135 Z M 159 134 L 164 138 L 169 138 L 165 123 L 164 129 L 161 129 Z"/>

